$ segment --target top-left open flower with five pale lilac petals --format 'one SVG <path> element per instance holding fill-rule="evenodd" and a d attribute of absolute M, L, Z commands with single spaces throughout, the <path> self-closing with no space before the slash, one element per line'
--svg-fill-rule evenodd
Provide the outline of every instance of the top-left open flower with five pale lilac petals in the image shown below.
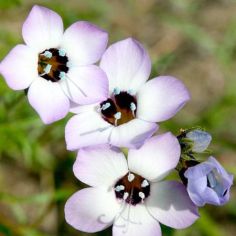
<path fill-rule="evenodd" d="M 63 33 L 57 13 L 34 6 L 22 35 L 26 45 L 10 51 L 0 64 L 0 72 L 10 88 L 29 88 L 29 102 L 44 123 L 65 117 L 70 100 L 89 104 L 106 98 L 106 75 L 91 65 L 105 51 L 106 32 L 79 21 Z"/>

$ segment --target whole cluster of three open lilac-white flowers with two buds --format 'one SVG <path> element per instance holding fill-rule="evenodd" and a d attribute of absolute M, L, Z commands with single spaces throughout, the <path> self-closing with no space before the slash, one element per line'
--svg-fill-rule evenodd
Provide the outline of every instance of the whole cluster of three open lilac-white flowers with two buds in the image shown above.
<path fill-rule="evenodd" d="M 85 21 L 64 31 L 54 11 L 34 6 L 25 44 L 0 64 L 8 86 L 25 90 L 45 124 L 75 115 L 65 127 L 78 151 L 75 176 L 87 184 L 65 204 L 65 219 L 84 232 L 113 224 L 113 235 L 161 235 L 160 224 L 186 228 L 198 207 L 229 200 L 233 176 L 214 157 L 201 161 L 211 136 L 199 128 L 158 134 L 190 99 L 172 76 L 149 79 L 151 60 L 128 38 L 107 48 L 108 34 Z M 122 148 L 126 148 L 124 154 Z M 164 180 L 177 170 L 182 181 Z"/>

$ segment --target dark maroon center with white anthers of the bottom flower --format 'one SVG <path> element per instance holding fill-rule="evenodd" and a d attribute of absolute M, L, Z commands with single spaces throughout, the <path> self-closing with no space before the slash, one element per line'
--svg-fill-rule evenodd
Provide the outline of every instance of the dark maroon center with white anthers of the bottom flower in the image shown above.
<path fill-rule="evenodd" d="M 140 175 L 127 173 L 114 186 L 116 197 L 136 205 L 150 195 L 150 183 Z"/>

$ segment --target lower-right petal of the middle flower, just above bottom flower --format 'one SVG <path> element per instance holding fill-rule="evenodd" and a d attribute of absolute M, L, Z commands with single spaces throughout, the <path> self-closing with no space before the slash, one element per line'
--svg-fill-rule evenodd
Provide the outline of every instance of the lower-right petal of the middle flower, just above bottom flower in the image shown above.
<path fill-rule="evenodd" d="M 158 129 L 157 124 L 134 119 L 114 127 L 110 143 L 117 147 L 138 148 Z"/>

